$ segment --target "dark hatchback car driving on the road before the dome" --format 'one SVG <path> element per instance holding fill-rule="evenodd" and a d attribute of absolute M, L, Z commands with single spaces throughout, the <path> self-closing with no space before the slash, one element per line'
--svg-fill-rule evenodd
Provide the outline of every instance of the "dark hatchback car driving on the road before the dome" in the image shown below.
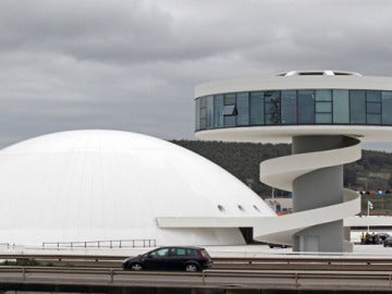
<path fill-rule="evenodd" d="M 211 258 L 201 247 L 160 247 L 123 261 L 124 270 L 185 270 L 201 271 L 210 268 Z"/>

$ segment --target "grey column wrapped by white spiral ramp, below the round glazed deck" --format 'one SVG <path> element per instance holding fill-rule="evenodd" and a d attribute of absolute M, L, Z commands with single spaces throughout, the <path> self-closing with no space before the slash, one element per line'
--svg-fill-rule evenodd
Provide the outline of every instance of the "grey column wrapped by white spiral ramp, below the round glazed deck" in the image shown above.
<path fill-rule="evenodd" d="M 343 164 L 360 154 L 354 137 L 294 137 L 293 155 L 261 162 L 260 181 L 293 192 L 294 213 L 264 219 L 254 226 L 254 238 L 301 252 L 350 250 L 343 219 L 360 211 L 360 197 L 343 188 Z"/>

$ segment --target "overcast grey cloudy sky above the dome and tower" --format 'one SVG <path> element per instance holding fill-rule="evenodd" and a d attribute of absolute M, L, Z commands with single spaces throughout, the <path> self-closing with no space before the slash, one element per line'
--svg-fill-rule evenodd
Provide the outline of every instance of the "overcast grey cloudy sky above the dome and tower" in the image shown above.
<path fill-rule="evenodd" d="M 390 0 L 0 0 L 0 147 L 78 128 L 193 139 L 209 79 L 392 75 L 391 15 Z"/>

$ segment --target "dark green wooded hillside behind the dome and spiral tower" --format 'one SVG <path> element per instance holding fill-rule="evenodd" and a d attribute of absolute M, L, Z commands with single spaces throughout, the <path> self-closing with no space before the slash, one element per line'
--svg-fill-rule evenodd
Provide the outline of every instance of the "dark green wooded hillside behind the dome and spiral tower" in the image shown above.
<path fill-rule="evenodd" d="M 203 140 L 172 140 L 172 143 L 199 154 L 222 167 L 250 186 L 262 198 L 271 196 L 272 188 L 260 183 L 259 163 L 266 159 L 291 154 L 290 144 Z M 363 150 L 360 160 L 344 166 L 344 186 L 357 191 L 388 191 L 392 188 L 392 154 Z M 287 192 L 275 191 L 274 195 L 285 196 L 289 194 Z"/>

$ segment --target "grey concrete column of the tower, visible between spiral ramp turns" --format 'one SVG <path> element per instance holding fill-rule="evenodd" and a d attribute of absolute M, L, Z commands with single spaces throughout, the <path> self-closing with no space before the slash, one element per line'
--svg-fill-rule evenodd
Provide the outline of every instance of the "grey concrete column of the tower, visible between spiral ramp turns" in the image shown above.
<path fill-rule="evenodd" d="M 317 152 L 342 147 L 344 147 L 344 136 L 297 136 L 293 137 L 292 152 Z M 293 182 L 294 212 L 342 201 L 343 166 L 315 170 Z M 343 252 L 343 220 L 297 232 L 293 235 L 293 244 L 294 252 Z"/>

